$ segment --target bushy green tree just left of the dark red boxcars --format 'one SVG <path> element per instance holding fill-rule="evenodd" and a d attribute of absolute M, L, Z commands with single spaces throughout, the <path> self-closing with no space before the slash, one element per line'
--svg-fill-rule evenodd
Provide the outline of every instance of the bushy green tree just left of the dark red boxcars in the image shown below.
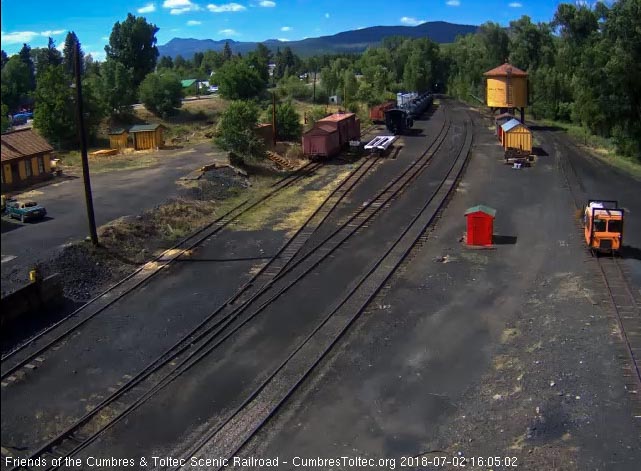
<path fill-rule="evenodd" d="M 247 101 L 234 101 L 218 121 L 214 142 L 223 150 L 243 159 L 264 156 L 265 144 L 255 132 L 258 125 L 258 107 Z"/>

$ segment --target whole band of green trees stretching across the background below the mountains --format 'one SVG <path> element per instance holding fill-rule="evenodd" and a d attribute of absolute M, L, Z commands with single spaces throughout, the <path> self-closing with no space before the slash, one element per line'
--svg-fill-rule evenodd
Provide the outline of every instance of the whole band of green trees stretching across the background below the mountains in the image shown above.
<path fill-rule="evenodd" d="M 285 104 L 294 99 L 323 104 L 338 95 L 356 111 L 398 91 L 482 98 L 483 72 L 509 60 L 530 74 L 529 111 L 535 118 L 579 124 L 641 160 L 639 24 L 641 0 L 619 0 L 611 7 L 561 4 L 549 23 L 535 24 L 527 16 L 508 28 L 488 22 L 476 34 L 441 46 L 427 38 L 389 37 L 359 55 L 300 58 L 289 47 L 272 52 L 263 44 L 241 56 L 225 44 L 222 51 L 172 59 L 158 58 L 158 28 L 129 14 L 114 25 L 105 62 L 82 58 L 83 89 L 90 129 L 104 116 L 125 117 L 137 100 L 159 116 L 174 114 L 185 93 L 180 79 L 208 80 L 223 98 L 258 100 L 263 108 L 273 87 Z M 2 52 L 3 129 L 8 112 L 28 108 L 35 99 L 35 124 L 45 137 L 59 145 L 73 141 L 73 91 L 66 84 L 77 41 L 71 32 L 62 53 L 51 38 L 45 48 L 25 44 L 12 57 Z"/>

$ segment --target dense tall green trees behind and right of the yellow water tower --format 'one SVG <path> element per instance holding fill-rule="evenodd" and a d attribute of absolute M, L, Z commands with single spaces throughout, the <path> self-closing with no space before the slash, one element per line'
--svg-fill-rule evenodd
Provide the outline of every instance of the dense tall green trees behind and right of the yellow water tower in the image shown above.
<path fill-rule="evenodd" d="M 530 74 L 535 118 L 573 122 L 641 161 L 641 0 L 561 4 L 550 23 L 484 24 L 447 48 L 449 92 L 483 97 L 483 72 L 509 59 Z"/>

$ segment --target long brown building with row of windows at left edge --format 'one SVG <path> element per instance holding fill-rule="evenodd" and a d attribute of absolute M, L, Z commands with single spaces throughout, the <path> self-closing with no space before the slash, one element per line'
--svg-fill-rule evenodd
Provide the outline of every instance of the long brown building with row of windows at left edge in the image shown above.
<path fill-rule="evenodd" d="M 53 147 L 33 129 L 2 134 L 2 192 L 51 178 Z"/>

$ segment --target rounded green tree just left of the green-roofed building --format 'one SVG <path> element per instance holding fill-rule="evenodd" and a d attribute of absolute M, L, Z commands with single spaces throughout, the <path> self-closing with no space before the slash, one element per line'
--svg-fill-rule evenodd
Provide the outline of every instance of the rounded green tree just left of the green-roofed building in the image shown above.
<path fill-rule="evenodd" d="M 149 74 L 140 84 L 140 101 L 156 116 L 172 116 L 182 106 L 182 85 L 173 73 Z"/>

